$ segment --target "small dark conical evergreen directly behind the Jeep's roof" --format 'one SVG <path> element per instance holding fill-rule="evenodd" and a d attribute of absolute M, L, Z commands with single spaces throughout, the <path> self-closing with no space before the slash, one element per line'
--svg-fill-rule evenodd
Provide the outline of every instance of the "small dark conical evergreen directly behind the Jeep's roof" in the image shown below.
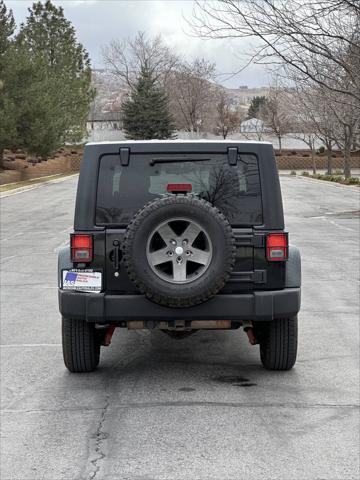
<path fill-rule="evenodd" d="M 175 127 L 165 91 L 143 68 L 129 100 L 122 105 L 124 130 L 132 140 L 174 138 Z"/>

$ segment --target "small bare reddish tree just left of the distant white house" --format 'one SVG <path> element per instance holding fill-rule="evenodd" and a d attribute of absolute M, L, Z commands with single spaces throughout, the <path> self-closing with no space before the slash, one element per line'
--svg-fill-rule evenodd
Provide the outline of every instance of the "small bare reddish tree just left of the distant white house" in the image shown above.
<path fill-rule="evenodd" d="M 240 123 L 245 119 L 245 113 L 239 108 L 232 105 L 231 98 L 225 89 L 220 88 L 217 92 L 216 114 L 214 119 L 214 132 L 221 135 L 225 140 L 226 137 L 240 130 Z"/>

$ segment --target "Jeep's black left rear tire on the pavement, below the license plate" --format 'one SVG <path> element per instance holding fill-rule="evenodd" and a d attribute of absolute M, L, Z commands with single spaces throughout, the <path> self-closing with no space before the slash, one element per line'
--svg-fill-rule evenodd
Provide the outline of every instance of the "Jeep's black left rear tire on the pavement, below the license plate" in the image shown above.
<path fill-rule="evenodd" d="M 92 372 L 98 366 L 100 340 L 95 325 L 63 317 L 62 346 L 64 363 L 70 372 Z"/>

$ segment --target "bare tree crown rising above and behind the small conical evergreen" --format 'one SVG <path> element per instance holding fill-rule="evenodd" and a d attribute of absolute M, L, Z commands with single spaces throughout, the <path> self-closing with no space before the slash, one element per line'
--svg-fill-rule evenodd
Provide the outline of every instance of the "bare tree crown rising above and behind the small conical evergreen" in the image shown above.
<path fill-rule="evenodd" d="M 179 57 L 157 35 L 148 38 L 138 32 L 134 39 L 113 40 L 102 48 L 105 65 L 133 89 L 142 69 L 164 85 L 168 75 L 179 65 Z"/>

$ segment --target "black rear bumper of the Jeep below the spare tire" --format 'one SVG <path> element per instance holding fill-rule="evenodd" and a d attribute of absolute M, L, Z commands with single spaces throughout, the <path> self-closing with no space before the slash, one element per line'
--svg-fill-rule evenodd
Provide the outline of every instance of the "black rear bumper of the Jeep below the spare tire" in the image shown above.
<path fill-rule="evenodd" d="M 300 288 L 216 295 L 190 308 L 168 308 L 143 295 L 106 295 L 59 289 L 63 317 L 106 324 L 129 320 L 273 320 L 292 317 L 300 310 Z"/>

